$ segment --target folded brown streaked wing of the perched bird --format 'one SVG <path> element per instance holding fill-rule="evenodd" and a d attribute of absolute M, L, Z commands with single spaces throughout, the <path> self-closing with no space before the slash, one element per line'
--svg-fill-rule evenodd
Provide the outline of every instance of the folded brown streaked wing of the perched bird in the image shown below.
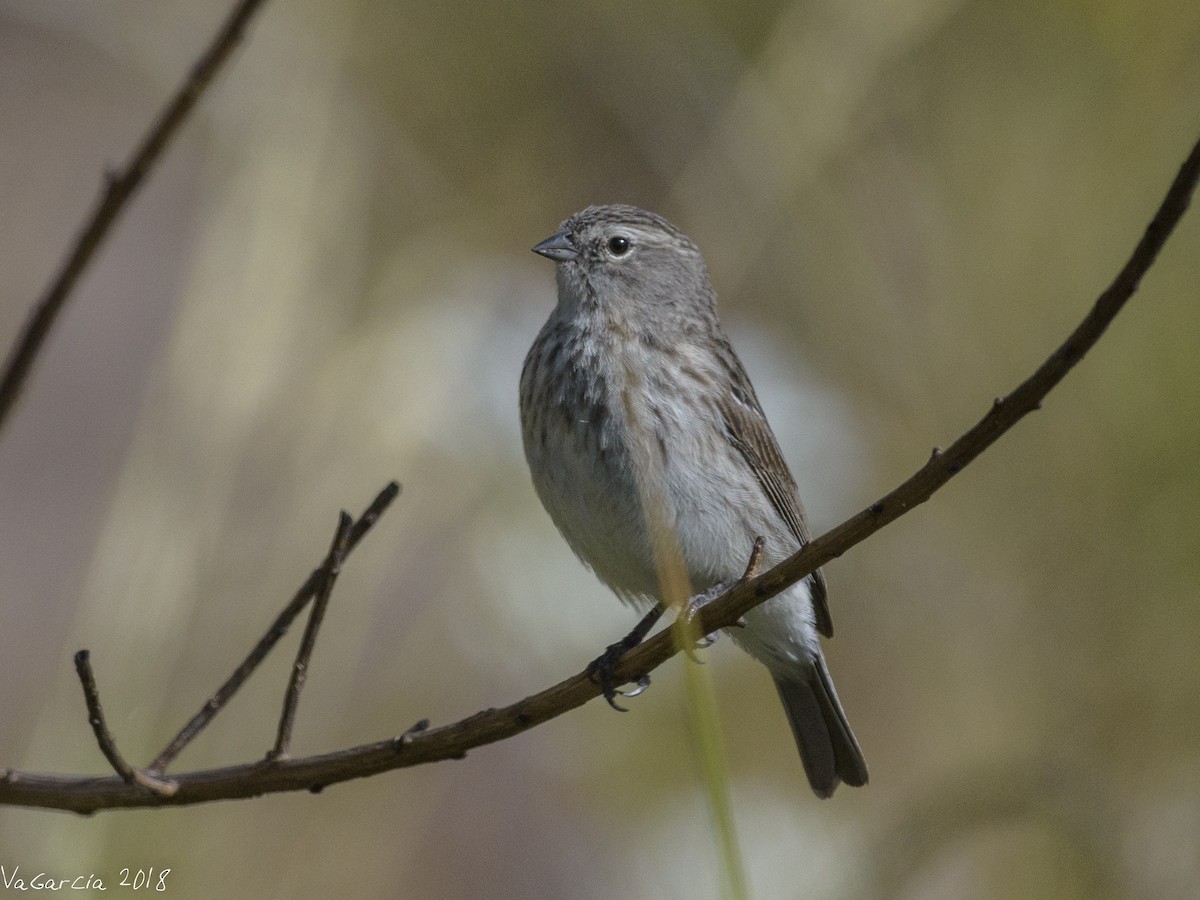
<path fill-rule="evenodd" d="M 796 480 L 787 469 L 784 455 L 779 450 L 767 416 L 758 404 L 754 385 L 742 367 L 742 361 L 727 347 L 725 364 L 728 367 L 731 391 L 718 402 L 721 418 L 725 420 L 725 433 L 730 443 L 738 449 L 750 470 L 762 486 L 770 505 L 787 524 L 803 547 L 809 542 L 809 526 L 804 520 Z M 833 617 L 829 616 L 829 601 L 826 596 L 824 575 L 817 569 L 812 572 L 812 612 L 816 617 L 817 631 L 826 637 L 833 636 Z"/>

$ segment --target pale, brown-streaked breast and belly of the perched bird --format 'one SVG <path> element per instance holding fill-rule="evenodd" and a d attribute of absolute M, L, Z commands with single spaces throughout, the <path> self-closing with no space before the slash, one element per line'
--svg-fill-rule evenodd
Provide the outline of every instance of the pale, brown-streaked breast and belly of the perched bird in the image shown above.
<path fill-rule="evenodd" d="M 623 595 L 659 595 L 652 527 L 670 530 L 696 590 L 740 575 L 764 534 L 719 389 L 692 347 L 634 330 L 551 320 L 530 350 L 521 394 L 534 486 L 576 554 Z"/>

